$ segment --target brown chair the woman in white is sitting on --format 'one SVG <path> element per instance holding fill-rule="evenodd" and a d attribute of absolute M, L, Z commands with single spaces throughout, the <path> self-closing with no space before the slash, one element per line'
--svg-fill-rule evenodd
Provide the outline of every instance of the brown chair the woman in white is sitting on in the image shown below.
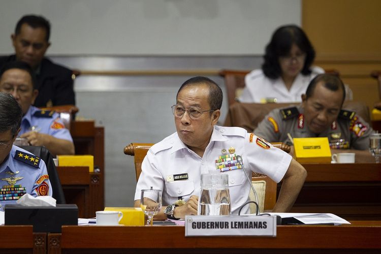
<path fill-rule="evenodd" d="M 224 77 L 229 106 L 238 102 L 237 95 L 245 87 L 245 76 L 249 72 L 247 70 L 221 70 L 218 73 L 219 76 Z M 339 72 L 336 70 L 325 70 L 325 72 L 339 76 Z"/>

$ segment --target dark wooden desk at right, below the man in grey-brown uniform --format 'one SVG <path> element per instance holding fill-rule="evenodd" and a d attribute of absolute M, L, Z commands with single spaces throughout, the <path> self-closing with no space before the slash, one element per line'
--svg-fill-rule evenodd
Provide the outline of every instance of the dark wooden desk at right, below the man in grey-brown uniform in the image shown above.
<path fill-rule="evenodd" d="M 308 176 L 291 212 L 330 212 L 347 220 L 381 220 L 381 164 L 303 166 Z"/>

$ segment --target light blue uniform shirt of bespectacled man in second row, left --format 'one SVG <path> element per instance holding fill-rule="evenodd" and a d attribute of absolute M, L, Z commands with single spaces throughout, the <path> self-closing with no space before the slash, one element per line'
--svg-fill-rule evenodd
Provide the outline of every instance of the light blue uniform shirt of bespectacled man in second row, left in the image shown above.
<path fill-rule="evenodd" d="M 35 128 L 40 133 L 48 134 L 57 139 L 65 139 L 73 142 L 68 129 L 65 128 L 59 114 L 50 110 L 41 110 L 30 106 L 21 120 L 21 131 L 19 135 L 30 132 Z"/>

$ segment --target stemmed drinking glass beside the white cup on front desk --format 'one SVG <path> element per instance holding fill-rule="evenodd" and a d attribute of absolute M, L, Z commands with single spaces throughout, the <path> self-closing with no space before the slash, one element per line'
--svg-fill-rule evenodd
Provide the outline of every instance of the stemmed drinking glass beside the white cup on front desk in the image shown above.
<path fill-rule="evenodd" d="M 160 189 L 142 189 L 140 197 L 140 207 L 147 215 L 147 225 L 153 224 L 153 216 L 162 208 L 162 190 Z"/>

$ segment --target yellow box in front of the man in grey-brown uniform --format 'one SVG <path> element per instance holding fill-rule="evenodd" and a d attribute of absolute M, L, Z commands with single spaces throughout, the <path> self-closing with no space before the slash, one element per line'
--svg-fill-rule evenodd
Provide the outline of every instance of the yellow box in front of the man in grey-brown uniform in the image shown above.
<path fill-rule="evenodd" d="M 330 163 L 328 138 L 294 138 L 296 160 L 299 163 Z"/>

